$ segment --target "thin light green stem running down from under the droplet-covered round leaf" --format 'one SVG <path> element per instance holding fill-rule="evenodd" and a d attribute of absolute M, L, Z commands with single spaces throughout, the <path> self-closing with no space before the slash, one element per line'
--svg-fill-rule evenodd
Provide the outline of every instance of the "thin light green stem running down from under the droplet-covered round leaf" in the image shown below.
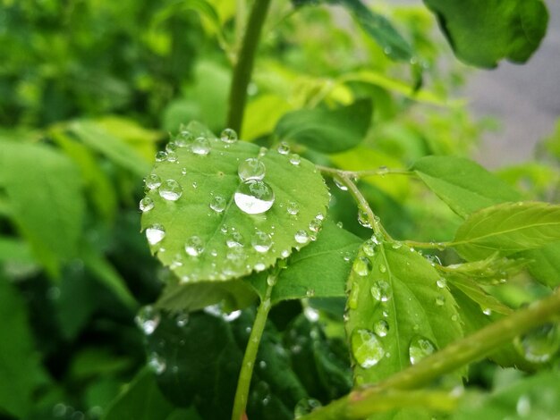
<path fill-rule="evenodd" d="M 270 294 L 272 293 L 272 289 L 276 283 L 277 275 L 277 272 L 270 274 L 267 281 L 267 291 L 265 292 L 265 297 L 260 301 L 259 309 L 257 309 L 255 322 L 253 323 L 249 341 L 247 342 L 247 349 L 245 349 L 245 355 L 243 356 L 242 370 L 237 380 L 237 390 L 235 391 L 235 399 L 233 401 L 232 420 L 240 420 L 245 414 L 247 398 L 249 396 L 250 378 L 252 377 L 257 352 L 259 351 L 262 332 L 265 330 L 265 325 L 267 323 L 268 311 L 270 311 L 271 307 Z"/>

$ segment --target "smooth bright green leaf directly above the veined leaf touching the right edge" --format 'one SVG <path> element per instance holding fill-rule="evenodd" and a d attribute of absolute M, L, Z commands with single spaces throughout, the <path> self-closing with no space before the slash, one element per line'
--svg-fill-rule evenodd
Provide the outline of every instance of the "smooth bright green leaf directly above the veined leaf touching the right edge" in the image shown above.
<path fill-rule="evenodd" d="M 412 165 L 420 179 L 456 214 L 516 201 L 520 194 L 479 164 L 454 156 L 426 156 Z"/>

